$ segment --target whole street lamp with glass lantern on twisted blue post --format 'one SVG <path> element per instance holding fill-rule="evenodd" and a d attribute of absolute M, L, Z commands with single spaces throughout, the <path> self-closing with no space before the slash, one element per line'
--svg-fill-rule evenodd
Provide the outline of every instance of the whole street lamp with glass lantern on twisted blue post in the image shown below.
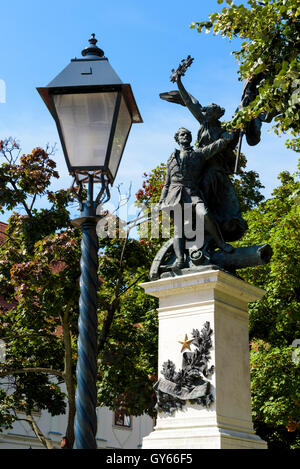
<path fill-rule="evenodd" d="M 82 230 L 75 449 L 97 448 L 97 208 L 110 198 L 109 185 L 132 123 L 142 122 L 131 86 L 121 82 L 96 44 L 92 34 L 81 58 L 72 59 L 48 86 L 37 88 L 56 122 L 81 208 L 80 217 L 72 221 Z M 96 184 L 100 192 L 94 197 Z"/>

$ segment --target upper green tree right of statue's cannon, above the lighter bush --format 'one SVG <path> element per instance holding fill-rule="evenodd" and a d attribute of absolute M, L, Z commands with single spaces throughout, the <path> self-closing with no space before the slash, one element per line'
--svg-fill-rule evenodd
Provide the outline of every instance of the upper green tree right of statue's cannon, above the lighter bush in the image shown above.
<path fill-rule="evenodd" d="M 300 332 L 295 328 L 300 313 L 299 204 L 293 197 L 299 190 L 298 178 L 299 173 L 280 174 L 281 185 L 273 191 L 273 197 L 247 214 L 249 230 L 239 242 L 272 246 L 269 264 L 244 269 L 240 275 L 267 292 L 251 308 L 250 333 L 274 345 L 290 345 Z"/>

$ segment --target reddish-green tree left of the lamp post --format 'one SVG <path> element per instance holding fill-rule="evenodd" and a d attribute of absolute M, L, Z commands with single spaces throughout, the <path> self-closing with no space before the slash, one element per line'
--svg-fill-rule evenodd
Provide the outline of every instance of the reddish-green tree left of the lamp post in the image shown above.
<path fill-rule="evenodd" d="M 0 209 L 11 215 L 0 247 L 0 337 L 6 361 L 0 365 L 0 422 L 23 419 L 47 447 L 33 410 L 66 411 L 66 436 L 72 444 L 75 415 L 74 358 L 78 316 L 79 236 L 70 225 L 69 191 L 49 190 L 58 178 L 49 150 L 22 155 L 13 139 L 0 142 Z M 38 198 L 48 208 L 37 209 Z M 20 213 L 21 211 L 21 213 Z M 23 213 L 23 214 L 22 214 Z M 66 392 L 61 390 L 64 383 Z"/>

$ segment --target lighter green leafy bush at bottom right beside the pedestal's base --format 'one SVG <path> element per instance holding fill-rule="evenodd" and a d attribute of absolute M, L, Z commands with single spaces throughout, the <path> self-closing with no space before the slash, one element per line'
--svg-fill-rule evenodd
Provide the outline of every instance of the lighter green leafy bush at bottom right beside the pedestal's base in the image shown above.
<path fill-rule="evenodd" d="M 291 346 L 251 343 L 252 407 L 255 427 L 272 449 L 299 449 L 299 364 Z"/>

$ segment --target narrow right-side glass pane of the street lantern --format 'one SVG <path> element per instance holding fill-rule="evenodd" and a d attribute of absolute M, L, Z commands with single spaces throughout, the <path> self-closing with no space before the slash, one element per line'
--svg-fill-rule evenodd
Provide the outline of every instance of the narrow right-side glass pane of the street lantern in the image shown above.
<path fill-rule="evenodd" d="M 116 125 L 115 135 L 113 139 L 111 156 L 108 163 L 108 167 L 112 174 L 112 177 L 115 178 L 116 172 L 119 167 L 119 163 L 122 157 L 123 149 L 127 140 L 127 136 L 131 127 L 132 119 L 128 111 L 125 100 L 122 96 L 120 103 L 120 111 L 118 116 L 118 121 Z"/>

